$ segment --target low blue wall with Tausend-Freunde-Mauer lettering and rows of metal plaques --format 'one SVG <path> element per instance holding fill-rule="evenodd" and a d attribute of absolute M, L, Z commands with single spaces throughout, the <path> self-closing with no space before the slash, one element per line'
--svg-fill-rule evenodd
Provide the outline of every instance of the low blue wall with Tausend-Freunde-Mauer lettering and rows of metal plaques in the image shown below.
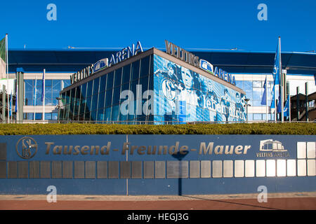
<path fill-rule="evenodd" d="M 314 136 L 4 136 L 0 194 L 312 192 L 315 148 Z"/>

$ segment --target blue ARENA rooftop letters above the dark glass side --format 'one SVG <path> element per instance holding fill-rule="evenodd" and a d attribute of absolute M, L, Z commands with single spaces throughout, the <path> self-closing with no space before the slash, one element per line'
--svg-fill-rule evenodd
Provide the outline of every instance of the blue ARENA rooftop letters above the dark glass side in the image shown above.
<path fill-rule="evenodd" d="M 128 59 L 129 57 L 132 57 L 134 55 L 137 55 L 138 53 L 143 52 L 142 45 L 140 44 L 140 41 L 137 41 L 136 47 L 133 44 L 132 47 L 126 47 L 122 50 L 118 51 L 116 55 L 112 54 L 110 58 L 109 66 L 112 64 L 117 64 L 119 62 L 123 62 L 124 60 Z"/>

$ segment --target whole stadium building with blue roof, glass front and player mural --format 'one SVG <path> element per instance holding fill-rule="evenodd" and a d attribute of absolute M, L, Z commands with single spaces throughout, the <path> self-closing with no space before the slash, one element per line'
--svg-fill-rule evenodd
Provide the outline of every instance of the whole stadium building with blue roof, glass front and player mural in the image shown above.
<path fill-rule="evenodd" d="M 17 106 L 22 116 L 18 120 L 57 120 L 58 113 L 60 120 L 157 123 L 260 121 L 267 114 L 268 120 L 275 119 L 274 109 L 270 109 L 275 52 L 183 50 L 184 58 L 182 49 L 176 55 L 170 44 L 171 49 L 145 51 L 137 45 L 135 49 L 119 51 L 9 49 L 9 93 L 18 92 L 14 80 L 22 74 L 23 91 Z M 209 69 L 198 64 L 195 57 L 199 62 L 209 62 Z M 106 58 L 109 66 L 96 71 L 100 59 Z M 44 69 L 45 100 L 41 101 Z M 305 94 L 306 83 L 307 94 L 316 91 L 315 53 L 282 52 L 282 71 L 286 73 L 287 94 L 296 95 L 297 87 L 298 93 Z M 268 78 L 268 113 L 261 105 L 265 78 Z M 0 84 L 6 85 L 6 80 Z M 127 94 L 122 97 L 124 90 Z M 309 106 L 315 108 L 315 100 Z M 13 104 L 13 120 L 14 111 Z"/>

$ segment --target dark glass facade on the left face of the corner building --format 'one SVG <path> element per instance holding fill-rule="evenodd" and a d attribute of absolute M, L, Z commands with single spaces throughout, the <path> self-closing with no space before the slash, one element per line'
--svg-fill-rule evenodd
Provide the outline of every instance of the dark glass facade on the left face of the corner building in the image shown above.
<path fill-rule="evenodd" d="M 150 120 L 145 113 L 136 113 L 139 95 L 153 89 L 152 56 L 149 55 L 61 94 L 60 120 Z M 124 91 L 125 90 L 125 91 Z M 124 93 L 127 94 L 124 95 Z M 123 94 L 121 94 L 123 93 Z M 120 113 L 128 102 L 128 114 Z M 152 119 L 151 119 L 152 120 Z"/>

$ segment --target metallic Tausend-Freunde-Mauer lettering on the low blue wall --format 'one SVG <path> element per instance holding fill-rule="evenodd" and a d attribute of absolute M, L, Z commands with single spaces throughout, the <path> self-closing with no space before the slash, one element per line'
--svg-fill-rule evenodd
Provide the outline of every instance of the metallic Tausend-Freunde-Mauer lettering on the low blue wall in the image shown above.
<path fill-rule="evenodd" d="M 180 146 L 180 142 L 176 141 L 173 146 L 133 146 L 129 142 L 124 142 L 121 150 L 119 148 L 111 149 L 111 141 L 107 141 L 105 146 L 59 146 L 54 142 L 45 142 L 46 155 L 109 155 L 110 151 L 121 152 L 121 155 L 134 153 L 138 155 L 173 155 L 180 153 L 186 155 L 189 151 L 197 152 L 199 155 L 242 155 L 247 154 L 251 146 L 216 146 L 214 142 L 200 142 L 199 148 L 189 148 L 188 146 Z"/>

